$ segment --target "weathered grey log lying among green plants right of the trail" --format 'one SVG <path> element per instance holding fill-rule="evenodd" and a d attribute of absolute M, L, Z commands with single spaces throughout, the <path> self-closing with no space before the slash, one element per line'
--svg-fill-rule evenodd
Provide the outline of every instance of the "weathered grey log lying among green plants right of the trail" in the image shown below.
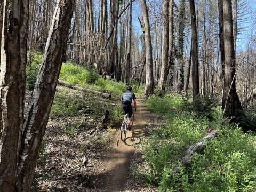
<path fill-rule="evenodd" d="M 189 166 L 193 155 L 195 155 L 195 153 L 199 153 L 200 151 L 202 151 L 205 148 L 205 142 L 213 139 L 215 136 L 216 136 L 216 130 L 213 130 L 208 135 L 206 135 L 201 141 L 198 141 L 194 145 L 190 146 L 187 149 L 185 156 L 180 161 L 181 165 L 185 167 Z M 174 166 L 171 176 L 173 176 L 176 173 L 179 173 L 178 163 Z"/>

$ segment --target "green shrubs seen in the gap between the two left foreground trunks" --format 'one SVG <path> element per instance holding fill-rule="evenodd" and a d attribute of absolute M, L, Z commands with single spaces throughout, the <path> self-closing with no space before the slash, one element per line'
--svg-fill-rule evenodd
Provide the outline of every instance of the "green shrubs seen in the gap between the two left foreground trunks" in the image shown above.
<path fill-rule="evenodd" d="M 30 65 L 27 65 L 27 68 L 26 68 L 26 76 L 27 76 L 26 89 L 27 90 L 33 90 L 35 87 L 37 74 L 43 60 L 43 53 L 34 52 L 32 57 L 33 57 L 33 60 L 31 61 Z"/>

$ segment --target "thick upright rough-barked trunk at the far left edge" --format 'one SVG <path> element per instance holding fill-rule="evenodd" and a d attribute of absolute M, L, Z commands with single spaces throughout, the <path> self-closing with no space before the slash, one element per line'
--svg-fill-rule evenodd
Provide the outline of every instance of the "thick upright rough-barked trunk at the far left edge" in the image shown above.
<path fill-rule="evenodd" d="M 0 191 L 14 191 L 25 107 L 28 0 L 2 1 Z M 2 5 L 2 4 L 1 4 Z"/>

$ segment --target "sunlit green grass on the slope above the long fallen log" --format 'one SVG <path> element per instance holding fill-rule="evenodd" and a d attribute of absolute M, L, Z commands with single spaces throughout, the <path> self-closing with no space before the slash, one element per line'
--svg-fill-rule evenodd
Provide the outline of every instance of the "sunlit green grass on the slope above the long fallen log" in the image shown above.
<path fill-rule="evenodd" d="M 43 59 L 43 53 L 34 52 L 31 65 L 27 67 L 27 83 L 26 88 L 33 90 L 36 82 L 39 67 Z M 59 79 L 69 84 L 77 84 L 82 87 L 97 90 L 100 92 L 108 92 L 116 95 L 121 95 L 126 91 L 126 84 L 123 82 L 116 82 L 114 80 L 103 79 L 94 69 L 86 69 L 79 66 L 73 61 L 67 61 L 62 64 Z M 139 97 L 142 94 L 142 89 L 138 89 L 136 83 L 131 83 L 133 92 Z"/>

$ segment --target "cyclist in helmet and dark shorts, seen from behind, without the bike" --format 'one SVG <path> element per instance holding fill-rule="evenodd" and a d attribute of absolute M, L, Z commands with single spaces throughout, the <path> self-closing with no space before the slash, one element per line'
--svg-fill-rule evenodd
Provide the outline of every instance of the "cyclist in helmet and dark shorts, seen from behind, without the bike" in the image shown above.
<path fill-rule="evenodd" d="M 134 107 L 136 108 L 136 97 L 135 94 L 132 92 L 132 87 L 127 86 L 127 91 L 125 91 L 121 97 L 121 102 L 122 102 L 122 108 L 123 108 L 123 113 L 124 113 L 124 119 L 125 119 L 125 114 L 128 114 L 128 130 L 130 131 L 130 124 L 131 120 L 130 118 L 132 117 L 132 100 Z"/>

